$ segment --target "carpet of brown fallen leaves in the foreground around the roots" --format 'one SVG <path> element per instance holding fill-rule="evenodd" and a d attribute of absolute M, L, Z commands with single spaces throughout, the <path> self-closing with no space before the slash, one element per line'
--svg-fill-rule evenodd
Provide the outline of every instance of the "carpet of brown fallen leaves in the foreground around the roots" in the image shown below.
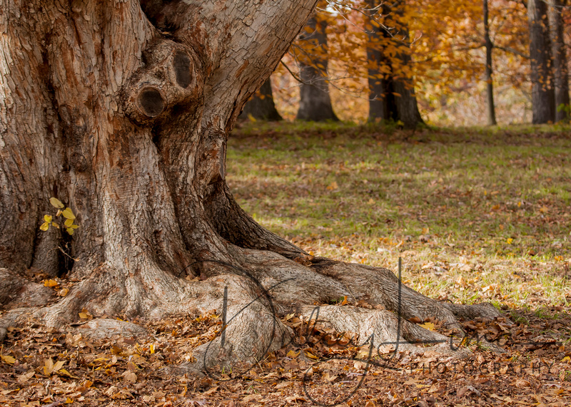
<path fill-rule="evenodd" d="M 569 406 L 571 315 L 550 311 L 542 318 L 512 311 L 515 324 L 463 322 L 467 335 L 452 346 L 470 349 L 468 359 L 356 346 L 350 333 L 290 314 L 283 317 L 296 333 L 290 344 L 204 376 L 168 368 L 220 334 L 214 313 L 138 321 L 151 332 L 138 341 L 89 340 L 77 327 L 31 324 L 10 329 L 1 348 L 0 406 Z M 450 334 L 439 321 L 415 322 Z"/>

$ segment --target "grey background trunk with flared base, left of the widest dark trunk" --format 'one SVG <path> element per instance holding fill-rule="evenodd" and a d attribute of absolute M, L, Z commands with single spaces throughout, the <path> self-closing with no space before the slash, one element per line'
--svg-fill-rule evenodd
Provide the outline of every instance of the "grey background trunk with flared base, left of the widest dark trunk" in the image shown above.
<path fill-rule="evenodd" d="M 319 21 L 314 14 L 305 25 L 299 38 L 300 103 L 298 120 L 339 120 L 333 112 L 329 84 L 327 81 L 328 47 L 325 28 L 327 23 Z"/>

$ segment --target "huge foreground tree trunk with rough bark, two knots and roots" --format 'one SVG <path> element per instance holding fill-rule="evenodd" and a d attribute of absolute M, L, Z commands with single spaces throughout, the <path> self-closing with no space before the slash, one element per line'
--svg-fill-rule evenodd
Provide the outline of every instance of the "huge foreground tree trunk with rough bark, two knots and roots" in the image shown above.
<path fill-rule="evenodd" d="M 196 370 L 260 359 L 293 334 L 276 316 L 307 318 L 342 296 L 373 308 L 324 306 L 319 318 L 361 342 L 443 339 L 394 310 L 458 330 L 458 316 L 497 315 L 406 287 L 398 296 L 389 270 L 312 258 L 233 200 L 228 133 L 314 6 L 0 2 L 0 336 L 29 319 L 63 326 L 84 308 L 148 319 L 224 309 L 223 335 L 185 366 Z M 50 197 L 76 213 L 73 237 L 39 230 Z M 38 270 L 74 286 L 57 297 L 34 283 Z"/>

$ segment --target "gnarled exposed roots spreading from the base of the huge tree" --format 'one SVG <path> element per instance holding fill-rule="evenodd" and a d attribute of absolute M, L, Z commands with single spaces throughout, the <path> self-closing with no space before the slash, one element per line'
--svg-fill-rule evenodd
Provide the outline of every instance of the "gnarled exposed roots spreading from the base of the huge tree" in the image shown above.
<path fill-rule="evenodd" d="M 76 283 L 64 298 L 40 284 L 22 284 L 22 294 L 13 299 L 0 326 L 5 329 L 29 318 L 61 326 L 77 321 L 82 311 L 94 316 L 161 319 L 216 310 L 222 319 L 216 338 L 194 349 L 194 360 L 178 368 L 208 373 L 213 366 L 230 367 L 236 361 L 263 359 L 269 352 L 299 340 L 300 331 L 295 328 L 300 325 L 306 329 L 303 340 L 314 329 L 333 336 L 344 334 L 353 346 L 370 344 L 373 355 L 392 349 L 462 356 L 466 351 L 458 344 L 464 331 L 458 320 L 500 316 L 489 304 L 436 302 L 405 287 L 388 269 L 323 258 L 293 261 L 273 252 L 234 250 L 239 259 L 236 264 L 205 262 L 209 263 L 203 265 L 208 273 L 205 280 L 177 277 L 153 267 L 121 280 L 121 273 L 101 267 Z M 8 275 L 0 273 L 0 277 Z M 8 282 L 0 279 L 2 287 Z M 23 293 L 31 292 L 36 293 L 36 303 L 22 307 Z M 52 304 L 37 304 L 46 300 Z M 288 322 L 292 314 L 297 315 L 297 325 Z M 428 320 L 439 321 L 448 336 L 418 324 Z M 81 330 L 88 336 L 90 329 L 101 337 L 102 333 L 112 336 L 124 328 L 101 329 L 103 322 L 90 324 Z M 131 336 L 145 334 L 132 326 L 128 332 Z"/>

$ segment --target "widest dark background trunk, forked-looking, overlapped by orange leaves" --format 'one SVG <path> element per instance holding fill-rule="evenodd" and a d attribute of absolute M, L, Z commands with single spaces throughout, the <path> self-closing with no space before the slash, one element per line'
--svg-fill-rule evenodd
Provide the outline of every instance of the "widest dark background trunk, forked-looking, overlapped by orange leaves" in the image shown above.
<path fill-rule="evenodd" d="M 410 50 L 408 28 L 402 22 L 402 4 L 397 2 L 392 8 L 378 0 L 368 0 L 370 25 L 367 49 L 370 101 L 369 120 L 400 120 L 405 128 L 416 128 L 423 123 L 418 110 L 414 86 L 410 78 Z M 396 27 L 391 35 L 379 24 L 380 11 L 390 16 L 385 25 Z M 398 39 L 396 39 L 398 38 Z M 398 52 L 391 60 L 384 55 L 383 48 L 397 47 Z M 381 93 L 382 92 L 382 93 Z"/>

